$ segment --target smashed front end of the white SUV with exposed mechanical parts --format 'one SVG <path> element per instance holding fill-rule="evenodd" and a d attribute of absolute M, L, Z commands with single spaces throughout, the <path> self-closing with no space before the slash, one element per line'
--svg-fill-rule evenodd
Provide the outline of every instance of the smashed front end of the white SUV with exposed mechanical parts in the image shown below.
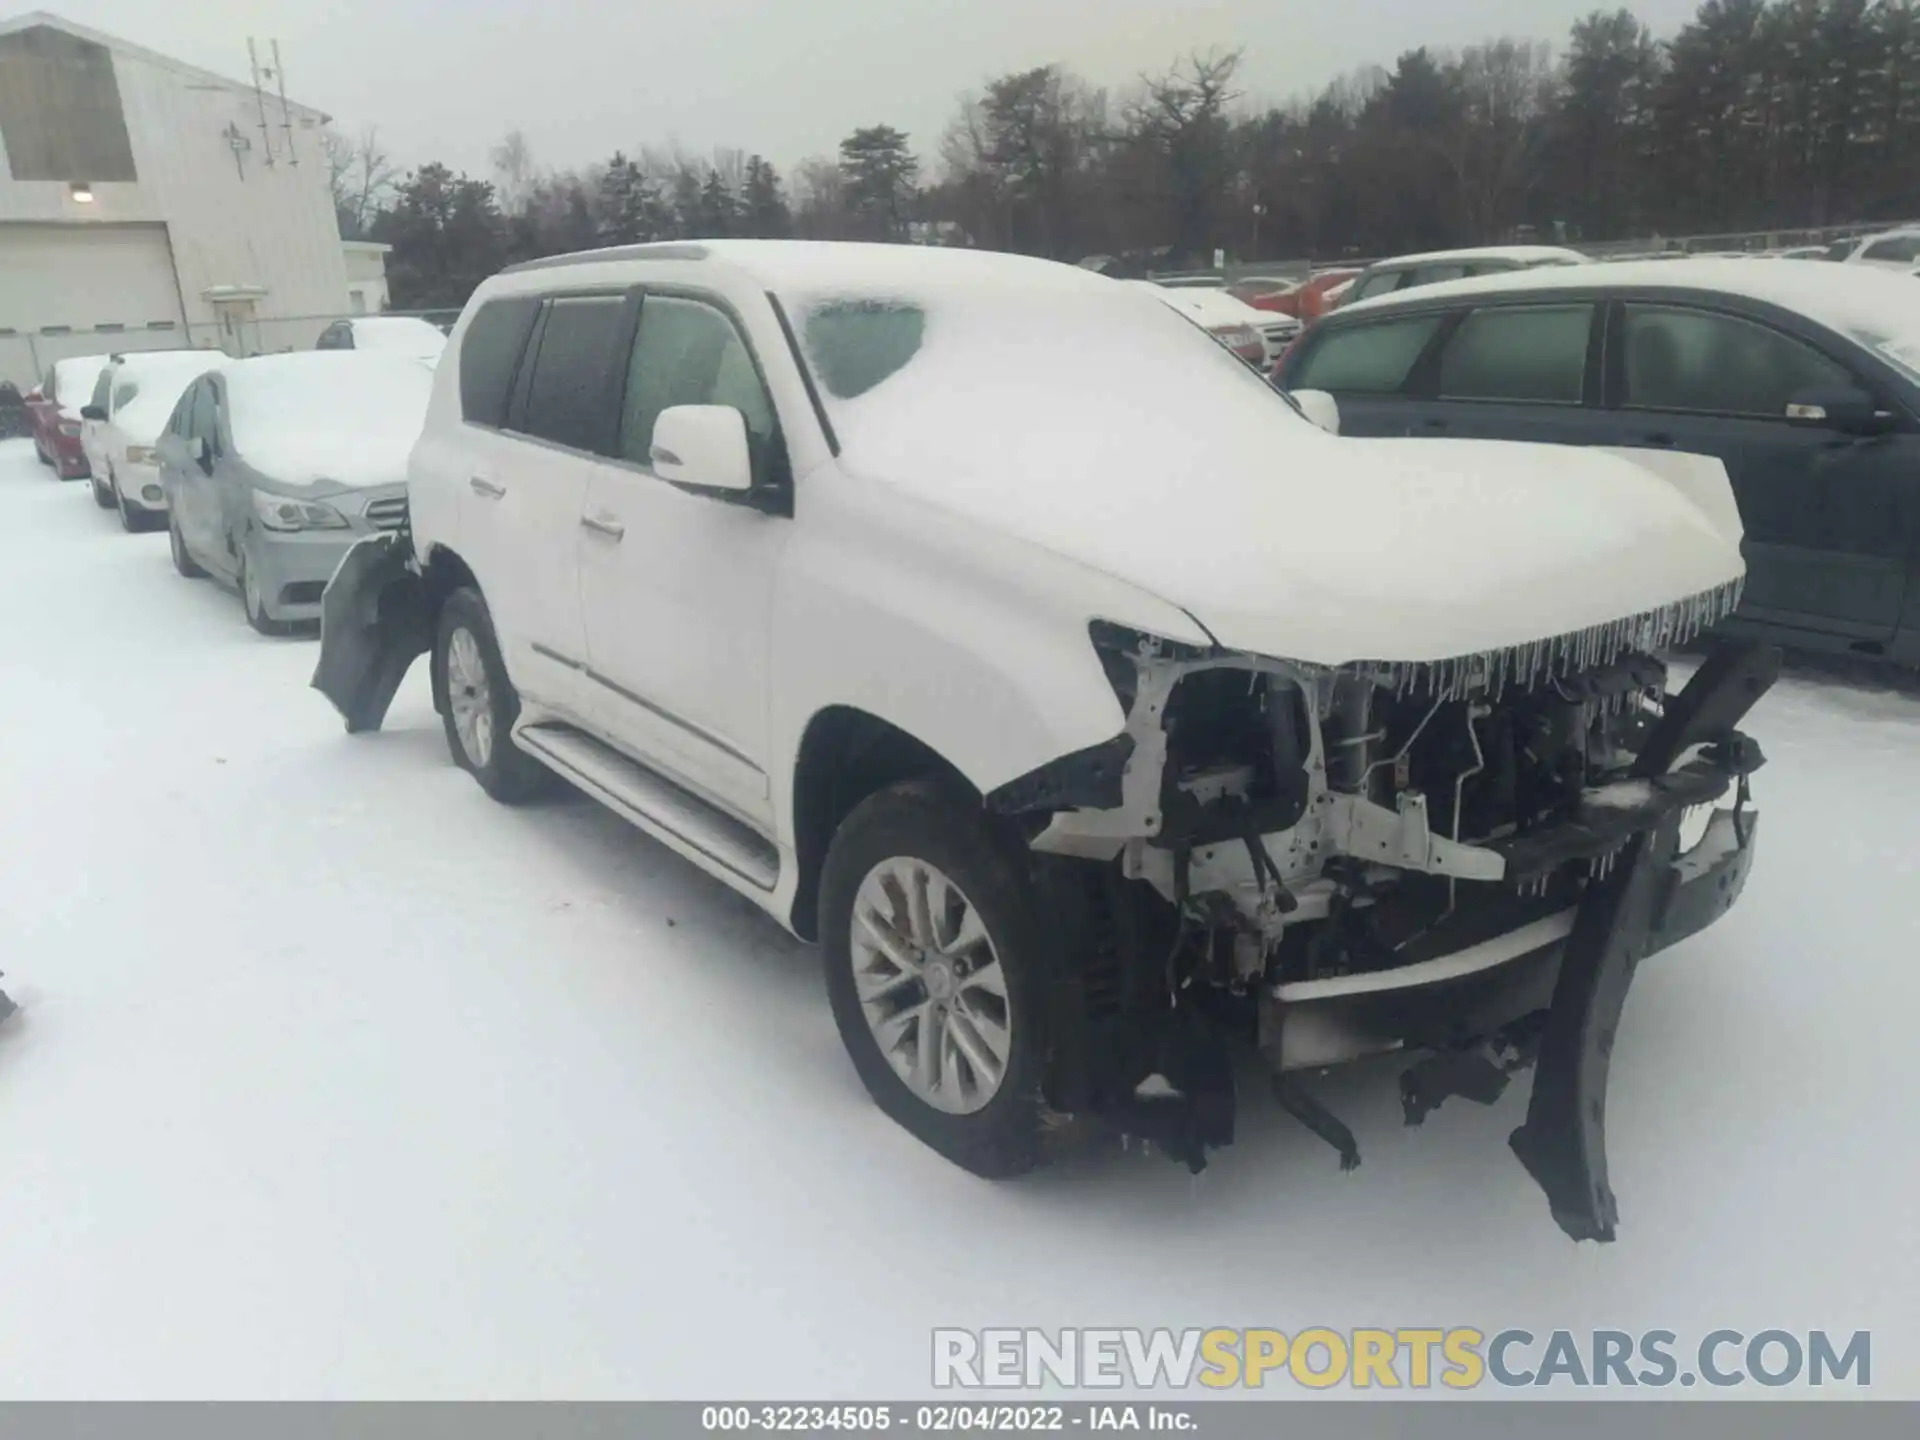
<path fill-rule="evenodd" d="M 1736 726 L 1778 676 L 1655 651 L 1724 588 L 1438 664 L 1311 666 L 1096 622 L 1114 741 L 1000 787 L 1060 927 L 1050 1102 L 1200 1169 L 1233 1139 L 1236 1043 L 1359 1164 L 1294 1075 L 1417 1060 L 1407 1123 L 1536 1068 L 1513 1150 L 1574 1238 L 1611 1240 L 1605 1091 L 1634 968 L 1740 895 L 1763 762 Z"/>

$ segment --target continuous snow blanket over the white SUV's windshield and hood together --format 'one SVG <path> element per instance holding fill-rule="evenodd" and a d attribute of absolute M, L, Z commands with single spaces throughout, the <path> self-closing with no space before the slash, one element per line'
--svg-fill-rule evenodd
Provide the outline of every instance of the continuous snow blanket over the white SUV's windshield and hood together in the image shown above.
<path fill-rule="evenodd" d="M 1329 434 L 1156 298 L 1058 269 L 924 298 L 902 276 L 920 348 L 849 396 L 822 365 L 841 465 L 1137 586 L 1223 645 L 1319 664 L 1561 637 L 1743 574 L 1726 507 L 1644 465 Z"/>

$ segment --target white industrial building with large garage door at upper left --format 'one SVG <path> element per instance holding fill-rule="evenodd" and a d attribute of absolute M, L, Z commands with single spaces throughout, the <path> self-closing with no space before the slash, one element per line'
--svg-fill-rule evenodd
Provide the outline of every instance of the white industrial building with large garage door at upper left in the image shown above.
<path fill-rule="evenodd" d="M 61 355 L 307 348 L 382 309 L 348 253 L 321 127 L 259 84 L 42 12 L 0 21 L 0 378 Z"/>

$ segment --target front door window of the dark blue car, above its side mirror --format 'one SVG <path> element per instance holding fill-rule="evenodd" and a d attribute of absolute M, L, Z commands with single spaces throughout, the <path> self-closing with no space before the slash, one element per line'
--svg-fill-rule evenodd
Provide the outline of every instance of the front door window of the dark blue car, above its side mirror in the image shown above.
<path fill-rule="evenodd" d="M 1801 392 L 1857 386 L 1812 346 L 1736 315 L 1626 305 L 1622 346 L 1634 409 L 1786 419 Z"/>

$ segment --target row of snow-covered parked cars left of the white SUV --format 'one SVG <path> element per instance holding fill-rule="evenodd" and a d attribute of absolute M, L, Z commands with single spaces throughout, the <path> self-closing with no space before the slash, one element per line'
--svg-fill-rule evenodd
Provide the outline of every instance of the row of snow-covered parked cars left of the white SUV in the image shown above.
<path fill-rule="evenodd" d="M 426 321 L 380 315 L 313 351 L 61 359 L 27 396 L 35 453 L 125 530 L 165 526 L 182 576 L 232 586 L 255 630 L 284 634 L 319 620 L 353 540 L 403 524 L 444 349 Z"/>

